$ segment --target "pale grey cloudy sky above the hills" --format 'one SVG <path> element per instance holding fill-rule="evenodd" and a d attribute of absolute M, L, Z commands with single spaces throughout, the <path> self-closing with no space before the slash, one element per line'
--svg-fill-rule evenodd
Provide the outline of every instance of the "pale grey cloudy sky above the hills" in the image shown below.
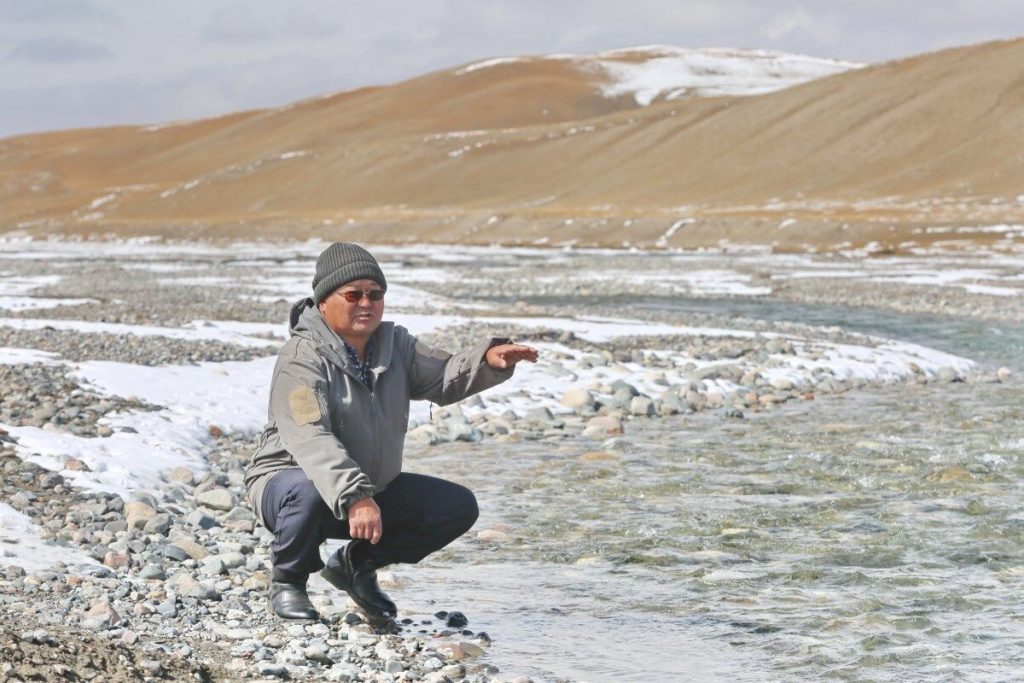
<path fill-rule="evenodd" d="M 0 137 L 285 104 L 490 56 L 660 43 L 879 61 L 1022 0 L 0 0 Z"/>

